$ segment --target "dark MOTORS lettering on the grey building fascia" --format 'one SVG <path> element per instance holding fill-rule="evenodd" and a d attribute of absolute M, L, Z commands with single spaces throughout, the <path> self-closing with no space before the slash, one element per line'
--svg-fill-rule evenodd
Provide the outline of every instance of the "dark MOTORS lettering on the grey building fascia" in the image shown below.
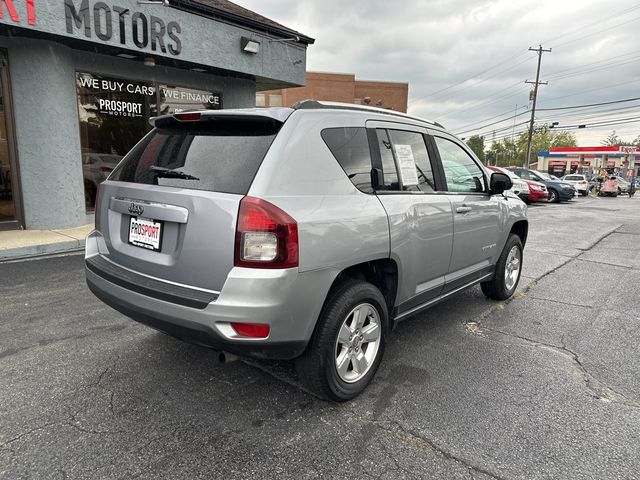
<path fill-rule="evenodd" d="M 139 49 L 150 48 L 153 52 L 169 52 L 174 56 L 182 51 L 182 28 L 175 21 L 165 22 L 160 17 L 147 17 L 131 8 L 109 6 L 105 2 L 91 6 L 89 0 L 64 0 L 64 16 L 67 33 L 71 35 L 80 34 L 89 39 L 95 36 L 105 42 L 115 40 L 125 46 L 133 43 Z"/>

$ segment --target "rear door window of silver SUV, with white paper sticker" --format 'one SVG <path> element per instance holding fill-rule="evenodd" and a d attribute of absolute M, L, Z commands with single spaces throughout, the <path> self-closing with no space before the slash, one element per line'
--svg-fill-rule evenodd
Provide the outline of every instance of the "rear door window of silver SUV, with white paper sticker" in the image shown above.
<path fill-rule="evenodd" d="M 378 130 L 382 170 L 388 190 L 435 191 L 424 136 L 405 130 Z"/>

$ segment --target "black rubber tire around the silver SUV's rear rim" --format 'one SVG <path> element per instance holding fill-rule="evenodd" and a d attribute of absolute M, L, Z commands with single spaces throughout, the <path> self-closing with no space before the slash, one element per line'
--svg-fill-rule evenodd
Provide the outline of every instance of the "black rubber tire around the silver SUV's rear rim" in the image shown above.
<path fill-rule="evenodd" d="M 338 373 L 336 342 L 350 312 L 364 304 L 372 306 L 378 314 L 381 326 L 379 345 L 366 373 L 357 381 L 349 383 Z M 355 398 L 367 387 L 378 370 L 384 354 L 388 329 L 387 305 L 382 293 L 374 285 L 349 280 L 334 287 L 322 308 L 307 350 L 296 359 L 300 381 L 311 393 L 325 400 L 345 402 Z M 362 352 L 364 351 L 363 349 Z"/>

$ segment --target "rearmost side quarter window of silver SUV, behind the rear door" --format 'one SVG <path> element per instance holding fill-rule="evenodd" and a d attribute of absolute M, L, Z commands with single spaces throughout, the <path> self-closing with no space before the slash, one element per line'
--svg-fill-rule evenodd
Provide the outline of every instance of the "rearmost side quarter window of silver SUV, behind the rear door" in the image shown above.
<path fill-rule="evenodd" d="M 367 130 L 361 127 L 327 128 L 321 135 L 351 183 L 364 193 L 373 193 Z"/>

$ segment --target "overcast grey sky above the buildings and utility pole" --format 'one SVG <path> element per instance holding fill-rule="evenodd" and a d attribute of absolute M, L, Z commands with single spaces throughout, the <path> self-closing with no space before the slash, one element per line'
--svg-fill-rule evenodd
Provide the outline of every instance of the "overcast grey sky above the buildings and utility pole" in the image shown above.
<path fill-rule="evenodd" d="M 549 85 L 539 89 L 538 108 L 640 97 L 640 3 L 632 0 L 236 3 L 315 38 L 307 70 L 408 82 L 409 113 L 460 137 L 484 133 L 488 144 L 526 128 L 518 125 L 530 118 L 524 81 L 535 80 L 537 59 L 529 47 L 553 50 L 542 56 L 540 80 Z M 516 111 L 523 114 L 478 130 Z M 560 126 L 634 122 L 572 130 L 579 145 L 599 145 L 612 130 L 632 140 L 638 119 L 640 101 L 536 112 L 536 122 Z"/>

